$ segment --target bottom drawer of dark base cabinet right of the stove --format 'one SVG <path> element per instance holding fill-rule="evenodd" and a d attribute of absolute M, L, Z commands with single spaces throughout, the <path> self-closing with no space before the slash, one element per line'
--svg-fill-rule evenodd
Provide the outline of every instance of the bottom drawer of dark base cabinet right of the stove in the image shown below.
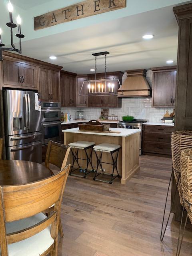
<path fill-rule="evenodd" d="M 171 155 L 171 145 L 168 143 L 145 142 L 144 152 Z"/>

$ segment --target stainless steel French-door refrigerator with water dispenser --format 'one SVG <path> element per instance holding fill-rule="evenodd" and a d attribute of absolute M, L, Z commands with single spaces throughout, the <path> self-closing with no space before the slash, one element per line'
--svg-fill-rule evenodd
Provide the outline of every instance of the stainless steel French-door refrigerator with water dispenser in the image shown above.
<path fill-rule="evenodd" d="M 37 109 L 37 99 L 38 92 L 3 90 L 7 159 L 42 162 L 41 112 Z"/>

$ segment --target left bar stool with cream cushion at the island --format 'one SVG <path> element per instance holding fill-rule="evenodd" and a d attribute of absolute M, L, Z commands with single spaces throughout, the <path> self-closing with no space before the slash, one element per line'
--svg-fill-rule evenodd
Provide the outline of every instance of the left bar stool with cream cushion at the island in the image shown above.
<path fill-rule="evenodd" d="M 72 156 L 73 156 L 73 163 L 72 163 L 69 175 L 86 178 L 87 174 L 94 171 L 94 168 L 92 166 L 92 152 L 93 152 L 93 146 L 94 145 L 95 145 L 95 142 L 91 142 L 91 141 L 76 141 L 76 142 L 72 142 L 72 143 L 69 144 L 69 146 L 71 147 L 71 152 L 72 152 Z M 73 148 L 77 149 L 76 153 L 72 150 Z M 84 152 L 86 154 L 86 159 L 85 158 L 78 158 L 78 152 L 79 152 L 80 149 L 84 150 Z M 89 150 L 89 149 L 91 149 L 90 154 L 88 154 L 88 152 L 87 152 L 87 150 Z M 73 173 L 76 170 L 81 169 L 78 160 L 86 160 L 87 161 L 87 166 L 86 166 L 86 169 L 85 169 L 84 176 Z M 79 168 L 76 168 L 76 169 L 73 170 L 73 166 L 74 166 L 75 162 L 78 164 Z M 89 164 L 92 167 L 92 170 L 90 170 L 88 172 Z"/>

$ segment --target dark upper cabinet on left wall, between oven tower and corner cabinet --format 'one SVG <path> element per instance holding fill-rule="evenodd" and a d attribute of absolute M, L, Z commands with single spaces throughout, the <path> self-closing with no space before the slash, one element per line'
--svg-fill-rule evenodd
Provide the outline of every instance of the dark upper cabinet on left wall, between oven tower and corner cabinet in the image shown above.
<path fill-rule="evenodd" d="M 61 70 L 61 106 L 76 106 L 76 74 Z"/>

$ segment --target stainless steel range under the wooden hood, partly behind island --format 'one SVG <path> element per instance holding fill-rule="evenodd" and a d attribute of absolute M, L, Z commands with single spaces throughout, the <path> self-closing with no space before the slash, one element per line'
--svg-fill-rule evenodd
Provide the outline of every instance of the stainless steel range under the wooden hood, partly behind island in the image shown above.
<path fill-rule="evenodd" d="M 142 124 L 148 122 L 148 120 L 134 119 L 133 121 L 120 121 L 117 123 L 118 128 L 126 129 L 141 129 L 140 142 L 139 142 L 139 153 L 142 153 Z"/>

